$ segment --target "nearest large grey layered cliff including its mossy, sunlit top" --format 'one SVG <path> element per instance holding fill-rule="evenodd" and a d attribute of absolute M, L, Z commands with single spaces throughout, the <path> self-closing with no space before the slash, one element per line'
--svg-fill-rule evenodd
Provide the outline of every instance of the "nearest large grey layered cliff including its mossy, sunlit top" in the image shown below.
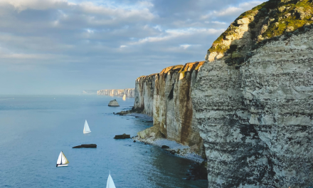
<path fill-rule="evenodd" d="M 209 49 L 191 94 L 208 187 L 313 186 L 312 7 L 267 1 Z M 287 21 L 284 33 L 277 16 Z M 303 24 L 288 29 L 296 22 Z"/>

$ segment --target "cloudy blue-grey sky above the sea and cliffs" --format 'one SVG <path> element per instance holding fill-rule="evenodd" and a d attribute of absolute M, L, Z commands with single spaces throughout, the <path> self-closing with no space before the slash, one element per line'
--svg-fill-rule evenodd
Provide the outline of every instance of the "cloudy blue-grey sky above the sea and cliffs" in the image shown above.
<path fill-rule="evenodd" d="M 134 88 L 264 0 L 0 0 L 0 95 Z"/>

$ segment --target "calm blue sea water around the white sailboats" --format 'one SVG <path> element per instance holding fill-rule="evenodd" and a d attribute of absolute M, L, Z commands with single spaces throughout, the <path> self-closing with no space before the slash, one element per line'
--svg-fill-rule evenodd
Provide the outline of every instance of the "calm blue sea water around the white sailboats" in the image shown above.
<path fill-rule="evenodd" d="M 113 115 L 129 108 L 133 98 L 97 95 L 0 96 L 0 187 L 105 187 L 109 171 L 121 187 L 208 187 L 207 181 L 187 181 L 193 162 L 159 147 L 115 140 L 152 126 L 134 117 Z M 83 134 L 87 120 L 89 134 Z M 73 149 L 97 144 L 97 149 Z M 55 167 L 60 151 L 70 164 Z"/>

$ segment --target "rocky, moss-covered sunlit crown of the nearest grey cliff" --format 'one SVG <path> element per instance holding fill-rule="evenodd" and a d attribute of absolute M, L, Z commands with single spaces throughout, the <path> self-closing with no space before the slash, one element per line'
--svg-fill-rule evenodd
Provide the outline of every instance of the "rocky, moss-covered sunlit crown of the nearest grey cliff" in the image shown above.
<path fill-rule="evenodd" d="M 206 60 L 240 58 L 260 41 L 306 31 L 313 23 L 313 0 L 270 0 L 241 14 L 208 49 Z M 228 53 L 228 54 L 226 54 Z"/>

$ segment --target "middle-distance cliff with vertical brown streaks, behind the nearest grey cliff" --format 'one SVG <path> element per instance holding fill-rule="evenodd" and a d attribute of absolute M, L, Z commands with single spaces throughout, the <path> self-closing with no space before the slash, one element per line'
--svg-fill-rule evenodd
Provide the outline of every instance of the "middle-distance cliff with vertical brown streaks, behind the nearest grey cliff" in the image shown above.
<path fill-rule="evenodd" d="M 142 113 L 154 119 L 154 126 L 139 133 L 140 137 L 161 133 L 167 139 L 189 145 L 193 152 L 204 155 L 190 97 L 203 63 L 171 66 L 161 73 L 137 78 L 134 108 L 142 109 Z"/>

